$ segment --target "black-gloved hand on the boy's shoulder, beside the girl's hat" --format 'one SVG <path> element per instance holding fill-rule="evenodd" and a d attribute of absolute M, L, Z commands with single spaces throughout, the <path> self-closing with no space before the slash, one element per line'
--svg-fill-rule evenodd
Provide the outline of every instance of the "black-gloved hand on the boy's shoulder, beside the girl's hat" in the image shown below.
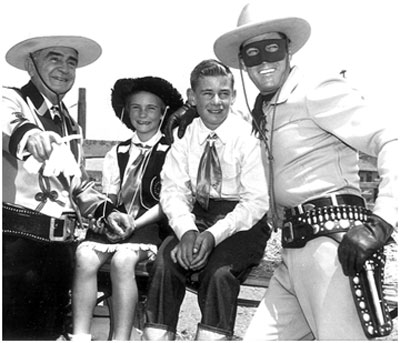
<path fill-rule="evenodd" d="M 168 118 L 164 129 L 167 142 L 169 144 L 174 142 L 173 130 L 178 126 L 178 137 L 182 138 L 185 134 L 186 128 L 193 121 L 193 119 L 198 116 L 199 115 L 197 114 L 196 107 L 190 105 L 188 102 L 172 113 Z"/>

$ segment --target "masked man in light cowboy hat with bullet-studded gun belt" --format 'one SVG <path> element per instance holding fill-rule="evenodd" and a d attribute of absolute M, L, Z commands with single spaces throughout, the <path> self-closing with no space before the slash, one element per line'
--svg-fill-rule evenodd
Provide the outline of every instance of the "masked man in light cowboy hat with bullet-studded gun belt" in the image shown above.
<path fill-rule="evenodd" d="M 377 257 L 381 266 L 377 252 L 397 225 L 397 136 L 343 78 L 308 86 L 290 61 L 308 40 L 309 23 L 267 20 L 269 12 L 247 5 L 237 28 L 214 44 L 217 57 L 244 69 L 260 91 L 253 129 L 265 142 L 271 217 L 282 229 L 283 263 L 244 339 L 387 335 L 387 308 L 367 304 L 375 283 L 365 286 L 363 265 Z M 378 157 L 372 211 L 361 197 L 358 151 Z"/>

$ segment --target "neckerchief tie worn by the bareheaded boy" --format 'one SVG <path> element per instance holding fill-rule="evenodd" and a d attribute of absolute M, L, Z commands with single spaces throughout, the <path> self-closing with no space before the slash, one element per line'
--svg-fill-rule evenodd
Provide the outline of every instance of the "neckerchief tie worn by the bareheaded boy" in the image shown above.
<path fill-rule="evenodd" d="M 208 135 L 197 173 L 196 200 L 205 210 L 208 209 L 211 187 L 221 195 L 222 171 L 215 148 L 217 139 L 218 136 L 213 132 Z"/>

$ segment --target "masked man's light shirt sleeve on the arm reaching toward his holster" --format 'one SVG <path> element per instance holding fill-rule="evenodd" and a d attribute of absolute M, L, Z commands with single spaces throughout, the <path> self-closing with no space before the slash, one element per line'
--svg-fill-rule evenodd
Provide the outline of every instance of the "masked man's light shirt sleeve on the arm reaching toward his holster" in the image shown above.
<path fill-rule="evenodd" d="M 373 212 L 393 226 L 398 220 L 398 125 L 373 108 L 344 79 L 321 83 L 307 99 L 309 113 L 324 130 L 368 155 L 378 158 L 381 178 Z"/>

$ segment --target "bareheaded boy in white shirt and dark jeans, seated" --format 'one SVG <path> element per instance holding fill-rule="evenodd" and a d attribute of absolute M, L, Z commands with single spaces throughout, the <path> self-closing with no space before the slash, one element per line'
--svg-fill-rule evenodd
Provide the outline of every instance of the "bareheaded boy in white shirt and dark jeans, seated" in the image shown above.
<path fill-rule="evenodd" d="M 262 220 L 268 189 L 260 144 L 250 124 L 231 112 L 231 71 L 215 60 L 201 62 L 191 74 L 188 97 L 200 118 L 175 138 L 161 173 L 160 202 L 175 235 L 163 242 L 152 270 L 147 340 L 175 338 L 185 284 L 193 275 L 202 313 L 196 340 L 230 338 L 240 283 L 259 263 L 270 236 Z M 215 168 L 203 168 L 203 151 L 213 155 L 208 165 Z"/>

